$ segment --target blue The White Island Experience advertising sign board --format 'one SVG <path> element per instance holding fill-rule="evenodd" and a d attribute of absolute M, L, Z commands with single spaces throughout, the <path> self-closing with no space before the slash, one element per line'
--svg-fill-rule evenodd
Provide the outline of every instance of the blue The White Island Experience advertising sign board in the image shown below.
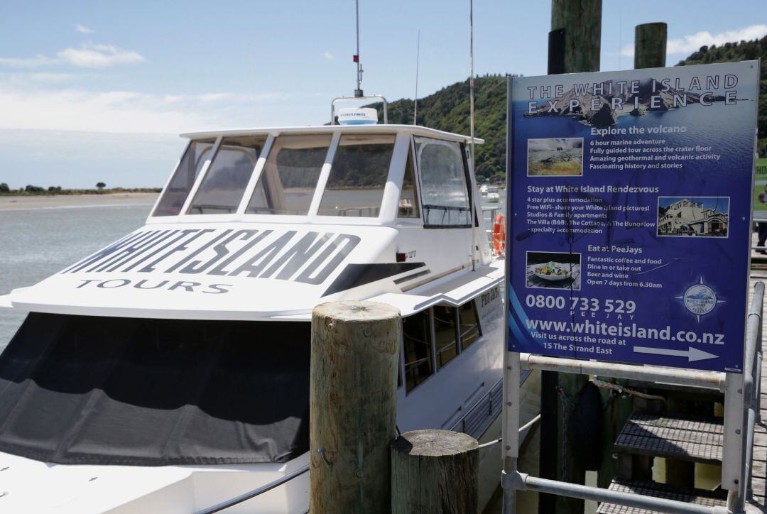
<path fill-rule="evenodd" d="M 509 351 L 740 372 L 759 63 L 509 82 Z"/>

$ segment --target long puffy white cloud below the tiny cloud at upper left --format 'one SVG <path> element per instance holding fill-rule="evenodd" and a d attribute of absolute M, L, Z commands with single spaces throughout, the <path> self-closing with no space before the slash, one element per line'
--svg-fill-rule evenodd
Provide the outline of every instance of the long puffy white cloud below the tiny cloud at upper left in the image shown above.
<path fill-rule="evenodd" d="M 37 54 L 32 58 L 0 58 L 12 68 L 38 68 L 50 64 L 71 64 L 78 68 L 105 68 L 115 64 L 136 64 L 146 59 L 137 51 L 125 51 L 109 44 L 84 43 L 80 48 L 64 48 L 55 58 Z"/>

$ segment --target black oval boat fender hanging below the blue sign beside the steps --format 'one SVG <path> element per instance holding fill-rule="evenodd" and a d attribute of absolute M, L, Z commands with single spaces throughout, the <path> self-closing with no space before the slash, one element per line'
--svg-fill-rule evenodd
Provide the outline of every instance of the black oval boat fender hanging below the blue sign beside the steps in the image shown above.
<path fill-rule="evenodd" d="M 588 471 L 597 471 L 602 461 L 602 397 L 599 387 L 587 382 L 570 418 L 573 457 Z"/>

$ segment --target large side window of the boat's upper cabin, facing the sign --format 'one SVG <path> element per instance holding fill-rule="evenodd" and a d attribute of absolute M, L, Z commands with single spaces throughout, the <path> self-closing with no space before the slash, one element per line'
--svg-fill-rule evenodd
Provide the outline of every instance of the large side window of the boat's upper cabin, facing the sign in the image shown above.
<path fill-rule="evenodd" d="M 471 226 L 463 148 L 453 141 L 416 137 L 425 226 Z"/>

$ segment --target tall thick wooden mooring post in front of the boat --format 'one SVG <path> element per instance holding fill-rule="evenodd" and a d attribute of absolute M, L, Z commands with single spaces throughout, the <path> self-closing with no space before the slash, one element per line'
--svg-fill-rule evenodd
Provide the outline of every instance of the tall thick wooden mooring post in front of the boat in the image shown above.
<path fill-rule="evenodd" d="M 400 311 L 336 301 L 311 313 L 309 510 L 388 513 Z"/>

